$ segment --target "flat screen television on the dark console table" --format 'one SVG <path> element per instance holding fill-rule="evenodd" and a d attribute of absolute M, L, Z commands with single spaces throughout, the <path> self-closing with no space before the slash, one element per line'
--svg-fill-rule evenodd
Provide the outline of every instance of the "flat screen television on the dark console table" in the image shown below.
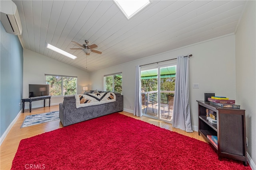
<path fill-rule="evenodd" d="M 49 96 L 49 84 L 28 84 L 29 98 Z"/>

